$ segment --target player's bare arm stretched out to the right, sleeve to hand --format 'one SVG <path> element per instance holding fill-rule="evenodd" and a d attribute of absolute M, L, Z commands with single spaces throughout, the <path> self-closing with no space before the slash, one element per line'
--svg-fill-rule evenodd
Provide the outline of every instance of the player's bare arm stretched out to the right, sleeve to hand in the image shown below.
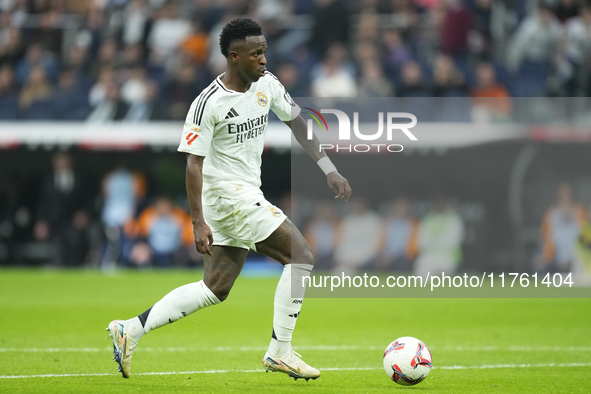
<path fill-rule="evenodd" d="M 307 138 L 308 127 L 306 125 L 306 121 L 302 118 L 302 115 L 298 115 L 295 119 L 291 121 L 283 121 L 293 133 L 295 139 L 298 143 L 304 148 L 306 153 L 314 160 L 315 163 L 322 158 L 328 158 L 326 152 L 320 149 L 320 141 L 316 134 L 313 134 L 313 138 L 309 140 Z M 330 161 L 329 161 L 330 163 Z M 345 201 L 349 201 L 351 197 L 351 186 L 349 182 L 337 171 L 336 167 L 330 163 L 333 167 L 333 171 L 330 171 L 326 174 L 326 182 L 328 183 L 328 187 L 335 192 L 336 196 L 335 199 L 340 198 Z"/>

